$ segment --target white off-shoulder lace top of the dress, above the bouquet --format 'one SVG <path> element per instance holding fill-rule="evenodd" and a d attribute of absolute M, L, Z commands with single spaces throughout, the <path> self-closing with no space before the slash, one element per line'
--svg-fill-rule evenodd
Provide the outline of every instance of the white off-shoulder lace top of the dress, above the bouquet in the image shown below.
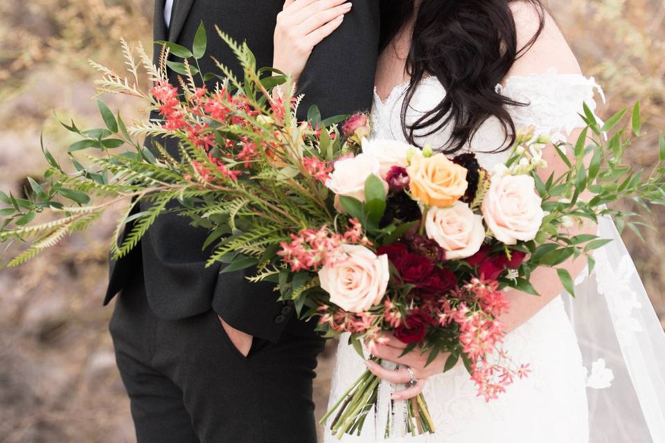
<path fill-rule="evenodd" d="M 402 132 L 401 111 L 408 82 L 396 86 L 388 98 L 382 101 L 375 91 L 371 120 L 373 138 L 406 141 Z M 580 74 L 559 74 L 551 68 L 544 73 L 515 75 L 506 80 L 505 87 L 497 85 L 504 96 L 527 106 L 508 107 L 516 128 L 535 125 L 538 134 L 551 134 L 562 138 L 585 124 L 578 115 L 586 103 L 592 112 L 596 111 L 594 96 L 596 91 L 603 101 L 605 96 L 593 78 Z M 445 88 L 436 77 L 424 78 L 407 109 L 407 124 L 414 123 L 423 113 L 433 109 L 445 96 Z M 497 163 L 504 163 L 509 152 L 496 152 L 506 147 L 503 125 L 497 118 L 488 118 L 479 127 L 469 145 L 477 153 L 483 168 L 492 169 Z M 418 136 L 419 145 L 444 147 L 450 140 L 450 128 L 445 127 L 436 134 Z"/>

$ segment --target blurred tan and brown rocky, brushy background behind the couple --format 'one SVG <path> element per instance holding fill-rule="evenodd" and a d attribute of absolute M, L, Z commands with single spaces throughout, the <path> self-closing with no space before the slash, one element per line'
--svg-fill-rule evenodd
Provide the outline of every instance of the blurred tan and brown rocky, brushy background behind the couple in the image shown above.
<path fill-rule="evenodd" d="M 587 75 L 608 96 L 608 116 L 641 99 L 648 136 L 630 149 L 635 165 L 657 161 L 665 128 L 665 3 L 656 0 L 551 2 Z M 152 1 L 0 2 L 0 188 L 20 194 L 46 167 L 44 144 L 61 159 L 71 143 L 58 120 L 97 125 L 91 57 L 121 69 L 118 41 L 151 37 Z M 114 100 L 126 120 L 143 115 Z M 634 208 L 637 210 L 637 208 Z M 665 212 L 628 248 L 665 325 Z M 101 307 L 114 214 L 17 269 L 0 271 L 0 443 L 134 442 L 129 405 L 115 368 Z M 317 410 L 326 408 L 334 343 L 321 357 Z"/>

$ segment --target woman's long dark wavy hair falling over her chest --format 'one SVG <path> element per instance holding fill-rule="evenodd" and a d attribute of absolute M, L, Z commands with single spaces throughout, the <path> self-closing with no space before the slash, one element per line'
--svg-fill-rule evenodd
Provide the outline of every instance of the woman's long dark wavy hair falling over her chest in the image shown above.
<path fill-rule="evenodd" d="M 409 143 L 452 125 L 450 140 L 437 147 L 446 154 L 462 150 L 487 118 L 502 123 L 506 141 L 515 141 L 515 125 L 506 105 L 524 106 L 496 90 L 511 66 L 533 46 L 544 27 L 545 9 L 538 0 L 520 0 L 538 12 L 538 32 L 517 48 L 517 30 L 510 5 L 516 0 L 381 1 L 383 51 L 414 14 L 415 25 L 407 57 L 409 88 L 402 106 L 402 130 Z M 432 75 L 445 88 L 445 98 L 411 125 L 407 110 L 416 87 Z M 496 150 L 501 150 L 502 146 Z M 505 149 L 505 148 L 504 148 Z"/>

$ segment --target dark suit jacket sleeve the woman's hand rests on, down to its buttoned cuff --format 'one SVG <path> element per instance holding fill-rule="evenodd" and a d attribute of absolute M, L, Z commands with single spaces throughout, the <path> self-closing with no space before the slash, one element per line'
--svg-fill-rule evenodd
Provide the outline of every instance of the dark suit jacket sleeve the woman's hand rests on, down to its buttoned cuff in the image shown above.
<path fill-rule="evenodd" d="M 342 26 L 314 48 L 301 74 L 299 93 L 305 97 L 299 118 L 303 119 L 313 104 L 324 118 L 369 110 L 379 32 L 379 0 L 353 0 L 353 9 Z M 277 293 L 273 284 L 250 283 L 244 274 L 220 274 L 213 309 L 236 329 L 274 341 L 294 310 L 291 305 L 274 303 Z"/>

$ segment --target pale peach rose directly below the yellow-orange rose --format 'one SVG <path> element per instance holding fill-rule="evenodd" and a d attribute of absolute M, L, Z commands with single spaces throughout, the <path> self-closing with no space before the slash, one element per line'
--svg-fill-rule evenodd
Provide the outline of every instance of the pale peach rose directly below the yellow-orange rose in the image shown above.
<path fill-rule="evenodd" d="M 425 232 L 445 249 L 448 260 L 474 255 L 485 240 L 483 216 L 474 214 L 468 204 L 461 201 L 450 208 L 430 208 L 425 218 Z"/>

